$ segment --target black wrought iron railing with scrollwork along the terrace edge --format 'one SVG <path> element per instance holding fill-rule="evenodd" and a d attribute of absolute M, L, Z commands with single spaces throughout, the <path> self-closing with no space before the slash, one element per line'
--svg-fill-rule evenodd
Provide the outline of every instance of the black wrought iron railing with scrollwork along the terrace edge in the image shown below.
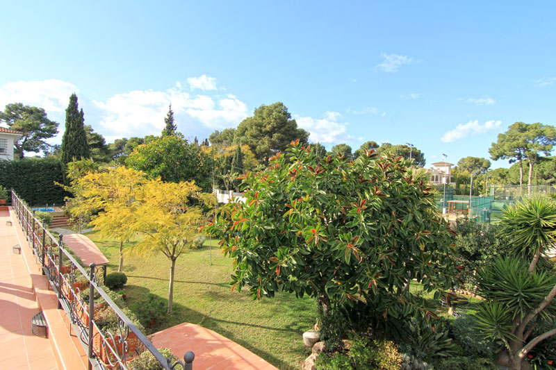
<path fill-rule="evenodd" d="M 131 369 L 129 360 L 143 351 L 152 353 L 164 369 L 193 369 L 193 352 L 186 353 L 183 362 L 165 358 L 99 286 L 95 264 L 81 266 L 65 248 L 62 235 L 56 239 L 13 190 L 12 205 L 42 274 L 58 296 L 58 308 L 88 353 L 89 369 Z"/>

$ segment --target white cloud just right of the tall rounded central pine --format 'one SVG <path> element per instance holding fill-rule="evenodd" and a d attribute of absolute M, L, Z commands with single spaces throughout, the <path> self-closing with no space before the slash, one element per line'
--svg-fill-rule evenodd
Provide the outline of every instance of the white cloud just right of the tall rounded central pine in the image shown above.
<path fill-rule="evenodd" d="M 313 117 L 295 117 L 297 126 L 309 131 L 309 138 L 313 142 L 337 143 L 350 138 L 346 134 L 347 123 L 338 122 L 341 117 L 338 112 L 326 112 L 325 118 L 316 119 Z"/>

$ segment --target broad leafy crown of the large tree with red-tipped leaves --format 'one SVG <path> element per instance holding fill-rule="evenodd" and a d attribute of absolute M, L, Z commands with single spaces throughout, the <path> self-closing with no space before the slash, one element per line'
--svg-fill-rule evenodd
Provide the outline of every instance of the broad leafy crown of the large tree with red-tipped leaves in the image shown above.
<path fill-rule="evenodd" d="M 407 288 L 415 278 L 440 298 L 455 285 L 452 235 L 410 165 L 372 149 L 355 161 L 318 158 L 292 142 L 268 169 L 244 174 L 245 203 L 205 228 L 234 259 L 232 289 L 247 285 L 254 299 L 309 294 L 325 314 L 355 301 L 381 317 L 432 314 Z"/>

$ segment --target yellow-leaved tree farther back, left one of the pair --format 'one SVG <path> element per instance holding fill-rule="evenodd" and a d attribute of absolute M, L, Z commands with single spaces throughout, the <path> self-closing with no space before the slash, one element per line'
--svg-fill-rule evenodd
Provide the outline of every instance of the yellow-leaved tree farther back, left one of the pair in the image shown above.
<path fill-rule="evenodd" d="M 79 201 L 74 204 L 74 210 L 89 214 L 98 212 L 90 225 L 99 235 L 120 242 L 117 271 L 122 271 L 124 265 L 124 242 L 136 232 L 133 228 L 138 205 L 136 194 L 146 182 L 146 174 L 123 166 L 105 167 L 76 180 L 75 199 Z"/>

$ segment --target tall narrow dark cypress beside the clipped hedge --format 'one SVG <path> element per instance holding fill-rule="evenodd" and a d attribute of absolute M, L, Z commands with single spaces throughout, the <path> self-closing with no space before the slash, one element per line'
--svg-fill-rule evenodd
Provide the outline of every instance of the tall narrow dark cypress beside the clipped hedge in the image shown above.
<path fill-rule="evenodd" d="M 62 146 L 60 147 L 60 160 L 62 161 L 64 182 L 67 183 L 65 177 L 65 169 L 69 162 L 81 160 L 90 157 L 89 145 L 87 144 L 87 134 L 83 124 L 83 108 L 79 110 L 77 103 L 77 95 L 74 93 L 70 96 L 70 104 L 65 110 L 65 131 L 62 137 Z"/>

